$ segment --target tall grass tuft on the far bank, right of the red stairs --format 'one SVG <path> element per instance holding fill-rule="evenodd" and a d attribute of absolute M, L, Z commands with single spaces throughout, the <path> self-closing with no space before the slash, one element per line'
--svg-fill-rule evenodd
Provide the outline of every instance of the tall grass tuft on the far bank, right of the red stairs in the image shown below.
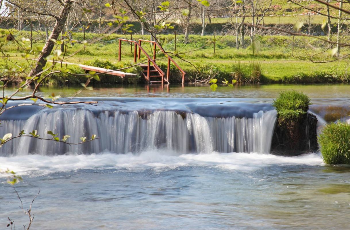
<path fill-rule="evenodd" d="M 257 83 L 260 82 L 261 65 L 258 62 L 236 62 L 230 66 L 232 77 L 237 82 Z"/>

